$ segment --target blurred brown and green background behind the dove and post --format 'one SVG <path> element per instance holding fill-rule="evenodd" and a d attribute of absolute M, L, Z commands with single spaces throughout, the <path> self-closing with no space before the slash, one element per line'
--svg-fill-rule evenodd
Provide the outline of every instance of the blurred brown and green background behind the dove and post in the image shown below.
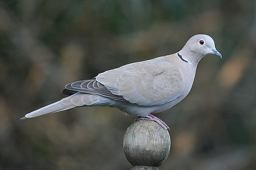
<path fill-rule="evenodd" d="M 256 169 L 256 1 L 0 0 L 0 170 L 130 170 L 122 142 L 135 116 L 83 107 L 21 121 L 64 85 L 179 51 L 201 59 L 189 95 L 155 114 L 170 127 L 161 170 Z"/>

